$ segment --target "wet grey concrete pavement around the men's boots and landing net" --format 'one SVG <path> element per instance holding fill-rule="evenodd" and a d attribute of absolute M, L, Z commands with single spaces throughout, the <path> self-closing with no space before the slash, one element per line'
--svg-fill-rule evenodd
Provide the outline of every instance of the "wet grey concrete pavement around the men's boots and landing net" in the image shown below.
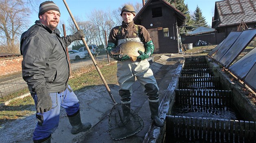
<path fill-rule="evenodd" d="M 168 88 L 172 85 L 174 76 L 177 72 L 177 67 L 180 66 L 180 62 L 183 59 L 183 55 L 171 54 L 168 56 L 162 55 L 160 59 L 154 60 L 150 63 L 156 81 L 159 87 L 159 101 L 161 106 L 166 105 L 166 95 L 168 95 Z M 120 97 L 118 95 L 119 86 L 108 85 L 111 89 L 113 97 L 117 103 L 120 103 Z M 149 142 L 152 139 L 152 128 L 157 128 L 158 133 L 161 128 L 156 127 L 152 123 L 150 118 L 150 108 L 148 103 L 148 97 L 144 93 L 139 82 L 135 82 L 132 86 L 133 94 L 131 97 L 131 109 L 137 112 L 137 114 L 143 119 L 143 129 L 134 136 L 128 137 L 123 140 L 114 141 L 111 139 L 108 132 L 108 114 L 110 113 L 113 105 L 113 101 L 108 95 L 105 86 L 100 85 L 91 89 L 83 89 L 76 91 L 76 95 L 80 101 L 80 114 L 82 122 L 91 122 L 92 128 L 87 132 L 80 132 L 77 135 L 71 134 L 71 125 L 65 115 L 65 111 L 61 109 L 61 118 L 59 126 L 56 131 L 52 134 L 52 143 L 142 143 Z M 88 97 L 87 97 L 88 96 Z M 164 109 L 165 107 L 160 107 Z M 161 118 L 165 118 L 165 115 L 161 115 Z M 33 120 L 30 124 L 34 124 L 36 121 Z M 32 127 L 31 127 L 32 128 Z M 162 127 L 162 128 L 165 128 Z M 30 130 L 26 134 L 31 134 L 33 130 Z M 154 132 L 154 130 L 153 130 Z M 153 135 L 154 136 L 154 135 Z M 32 142 L 31 137 L 16 141 L 19 143 Z"/>

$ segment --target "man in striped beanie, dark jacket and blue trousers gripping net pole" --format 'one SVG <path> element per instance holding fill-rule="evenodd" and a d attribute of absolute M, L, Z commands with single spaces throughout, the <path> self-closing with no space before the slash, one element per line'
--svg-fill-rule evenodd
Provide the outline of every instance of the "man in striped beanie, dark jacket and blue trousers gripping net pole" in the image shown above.
<path fill-rule="evenodd" d="M 69 61 L 65 50 L 71 42 L 82 40 L 79 30 L 66 38 L 56 28 L 61 16 L 59 7 L 52 1 L 39 6 L 39 20 L 21 36 L 23 55 L 22 77 L 28 84 L 37 110 L 34 143 L 50 143 L 51 135 L 59 125 L 60 108 L 67 113 L 72 134 L 86 131 L 91 123 L 82 124 L 79 101 L 68 85 Z"/>

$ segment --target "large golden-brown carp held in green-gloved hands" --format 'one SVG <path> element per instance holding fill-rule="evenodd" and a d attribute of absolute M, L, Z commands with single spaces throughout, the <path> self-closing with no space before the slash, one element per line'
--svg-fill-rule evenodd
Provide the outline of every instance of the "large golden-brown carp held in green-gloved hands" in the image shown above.
<path fill-rule="evenodd" d="M 141 50 L 141 52 L 145 52 L 144 44 L 142 42 L 129 40 L 126 42 L 123 42 L 113 50 L 111 50 L 112 55 L 119 55 L 119 57 L 124 57 L 125 55 L 128 55 L 131 59 L 131 61 L 136 61 L 137 57 L 139 56 L 138 51 Z"/>

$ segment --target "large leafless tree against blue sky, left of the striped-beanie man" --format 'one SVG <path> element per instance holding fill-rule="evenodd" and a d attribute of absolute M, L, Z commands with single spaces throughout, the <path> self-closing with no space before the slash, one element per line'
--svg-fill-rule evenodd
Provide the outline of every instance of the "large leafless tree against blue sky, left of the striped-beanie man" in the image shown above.
<path fill-rule="evenodd" d="M 0 53 L 19 53 L 20 35 L 28 27 L 28 7 L 35 0 L 0 0 Z"/>

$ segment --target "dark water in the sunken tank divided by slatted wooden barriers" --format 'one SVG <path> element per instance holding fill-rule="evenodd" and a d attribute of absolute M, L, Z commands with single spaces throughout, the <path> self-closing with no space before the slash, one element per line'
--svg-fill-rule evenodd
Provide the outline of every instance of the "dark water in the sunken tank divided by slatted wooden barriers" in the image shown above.
<path fill-rule="evenodd" d="M 197 65 L 200 65 L 200 64 L 197 64 Z M 222 87 L 220 87 L 221 84 L 219 81 L 214 80 L 214 81 L 209 82 L 208 80 L 203 80 L 203 77 L 212 77 L 213 76 L 212 73 L 208 74 L 208 73 L 202 72 L 202 74 L 200 74 L 199 71 L 204 71 L 204 70 L 193 69 L 194 67 L 196 67 L 195 65 L 192 65 L 192 66 L 187 65 L 187 66 L 188 66 L 188 69 L 186 69 L 186 70 L 190 71 L 190 73 L 185 73 L 186 70 L 184 70 L 184 67 L 185 67 L 184 66 L 182 69 L 182 71 L 184 70 L 184 73 L 183 73 L 184 75 L 182 75 L 182 76 L 194 77 L 196 80 L 195 81 L 193 80 L 194 82 L 189 82 L 190 80 L 187 80 L 187 82 L 186 82 L 186 80 L 184 80 L 184 81 L 182 80 L 182 82 L 181 82 L 182 84 L 179 85 L 180 89 L 188 89 L 189 90 L 189 89 L 191 89 L 190 87 L 198 87 L 198 90 L 204 90 L 205 88 L 202 88 L 202 87 L 206 87 L 206 90 L 207 89 L 223 90 Z M 197 72 L 194 72 L 194 71 L 197 71 Z M 203 77 L 197 79 L 196 77 L 198 77 L 198 76 L 200 76 L 200 77 L 203 76 Z M 208 81 L 208 82 L 203 82 L 203 81 Z M 215 85 L 216 82 L 217 82 L 217 84 Z M 213 87 L 213 88 L 209 88 L 209 87 Z M 214 93 L 217 95 L 208 94 L 208 93 L 206 95 L 202 95 L 202 93 L 200 93 L 200 94 L 197 94 L 194 92 L 190 93 L 185 90 L 181 91 L 179 93 L 177 92 L 176 93 L 177 101 L 176 101 L 174 107 L 172 107 L 173 111 L 171 111 L 171 115 L 172 116 L 193 117 L 193 118 L 221 119 L 221 120 L 244 120 L 244 118 L 239 116 L 239 114 L 238 114 L 239 112 L 236 111 L 236 108 L 232 107 L 232 102 L 230 101 L 230 98 L 232 98 L 232 97 L 228 97 L 226 95 L 219 95 L 219 94 L 223 94 L 221 92 Z M 182 121 L 182 122 L 184 122 L 184 121 Z M 193 120 L 193 122 L 195 123 L 194 120 Z M 200 134 L 202 135 L 202 133 L 205 132 L 205 130 L 204 131 L 201 130 L 202 128 L 200 128 L 200 127 L 195 128 L 197 126 L 196 125 L 197 123 L 193 124 L 193 122 L 189 123 L 189 125 L 192 124 L 192 127 L 189 126 L 190 129 L 188 129 L 188 130 L 186 130 L 187 126 L 184 127 L 185 125 L 183 125 L 182 123 L 180 124 L 180 121 L 179 121 L 179 124 L 177 127 L 178 129 L 176 127 L 169 128 L 169 129 L 166 128 L 164 143 L 208 143 L 208 142 L 221 141 L 218 139 L 219 135 L 217 135 L 217 133 L 215 133 L 214 127 L 211 128 L 210 131 L 209 130 L 206 131 L 207 132 L 206 137 L 202 137 L 202 136 L 200 136 Z M 201 122 L 199 122 L 199 124 L 201 124 Z M 217 123 L 215 123 L 215 124 L 217 124 Z M 211 124 L 210 126 L 213 126 L 213 125 L 215 126 L 215 124 Z M 225 127 L 226 127 L 226 124 L 225 124 Z M 208 124 L 207 124 L 207 128 L 208 128 Z M 217 130 L 217 127 L 216 127 L 216 130 Z M 221 129 L 218 129 L 218 130 L 221 130 Z M 212 133 L 212 134 L 210 134 L 210 133 Z M 174 134 L 174 135 L 172 135 L 172 134 Z M 215 140 L 215 137 L 217 137 L 217 140 Z M 226 142 L 226 141 L 221 141 L 221 142 Z"/>

